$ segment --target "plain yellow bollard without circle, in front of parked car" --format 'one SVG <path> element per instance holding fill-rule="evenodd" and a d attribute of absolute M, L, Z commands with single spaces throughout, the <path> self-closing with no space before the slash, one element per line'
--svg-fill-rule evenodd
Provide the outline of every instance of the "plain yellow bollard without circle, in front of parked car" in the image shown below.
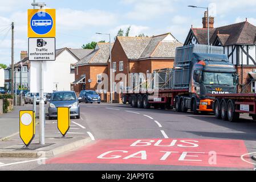
<path fill-rule="evenodd" d="M 70 129 L 70 107 L 57 107 L 58 129 L 63 137 Z"/>

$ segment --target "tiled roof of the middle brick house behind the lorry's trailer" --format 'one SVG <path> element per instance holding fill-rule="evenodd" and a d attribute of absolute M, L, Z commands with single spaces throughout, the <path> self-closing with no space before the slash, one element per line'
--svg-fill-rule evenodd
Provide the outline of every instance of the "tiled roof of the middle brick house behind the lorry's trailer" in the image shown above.
<path fill-rule="evenodd" d="M 173 58 L 176 47 L 182 46 L 178 40 L 170 41 L 165 38 L 171 35 L 153 36 L 150 38 L 117 37 L 128 59 L 139 60 L 147 58 Z"/>

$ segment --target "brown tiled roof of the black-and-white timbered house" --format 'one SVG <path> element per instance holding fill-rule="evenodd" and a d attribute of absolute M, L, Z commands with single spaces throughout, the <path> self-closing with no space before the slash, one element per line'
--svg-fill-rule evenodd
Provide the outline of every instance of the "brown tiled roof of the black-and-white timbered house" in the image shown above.
<path fill-rule="evenodd" d="M 207 28 L 192 28 L 191 30 L 198 43 L 208 44 Z M 210 44 L 217 38 L 220 39 L 222 46 L 253 45 L 256 44 L 256 27 L 245 21 L 210 29 Z"/>

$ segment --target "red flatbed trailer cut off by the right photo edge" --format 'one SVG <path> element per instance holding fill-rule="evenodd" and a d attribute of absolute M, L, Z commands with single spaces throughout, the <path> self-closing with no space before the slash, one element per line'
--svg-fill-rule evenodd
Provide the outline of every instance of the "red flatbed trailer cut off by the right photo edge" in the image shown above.
<path fill-rule="evenodd" d="M 214 98 L 213 110 L 217 119 L 236 122 L 240 114 L 247 113 L 256 120 L 256 94 L 208 94 Z"/>

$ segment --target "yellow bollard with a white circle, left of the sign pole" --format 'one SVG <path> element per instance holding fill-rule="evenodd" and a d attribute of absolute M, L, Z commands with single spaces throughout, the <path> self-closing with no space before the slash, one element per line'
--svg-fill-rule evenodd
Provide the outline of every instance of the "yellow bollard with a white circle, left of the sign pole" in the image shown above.
<path fill-rule="evenodd" d="M 35 112 L 32 110 L 19 111 L 19 136 L 23 143 L 29 146 L 35 137 Z"/>

